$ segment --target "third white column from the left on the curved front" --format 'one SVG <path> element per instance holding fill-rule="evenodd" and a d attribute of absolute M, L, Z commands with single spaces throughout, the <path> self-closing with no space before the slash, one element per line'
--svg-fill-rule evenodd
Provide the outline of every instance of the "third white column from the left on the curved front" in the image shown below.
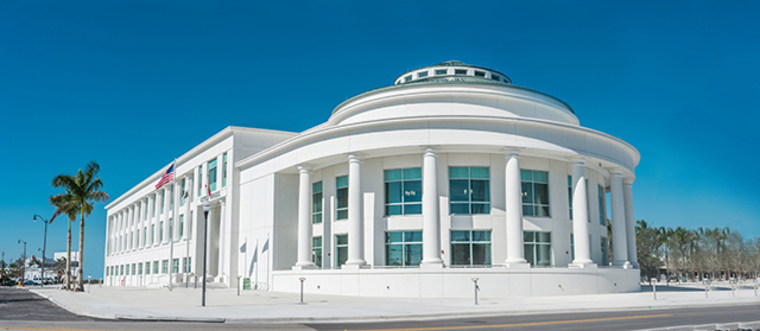
<path fill-rule="evenodd" d="M 422 265 L 442 267 L 440 209 L 438 207 L 438 155 L 425 149 L 422 163 Z"/>

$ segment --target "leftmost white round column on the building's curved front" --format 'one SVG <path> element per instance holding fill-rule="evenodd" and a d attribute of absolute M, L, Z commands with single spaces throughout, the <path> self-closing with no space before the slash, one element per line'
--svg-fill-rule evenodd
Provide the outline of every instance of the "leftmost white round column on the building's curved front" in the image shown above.
<path fill-rule="evenodd" d="M 294 269 L 312 267 L 311 262 L 311 172 L 298 167 L 298 261 Z"/>

